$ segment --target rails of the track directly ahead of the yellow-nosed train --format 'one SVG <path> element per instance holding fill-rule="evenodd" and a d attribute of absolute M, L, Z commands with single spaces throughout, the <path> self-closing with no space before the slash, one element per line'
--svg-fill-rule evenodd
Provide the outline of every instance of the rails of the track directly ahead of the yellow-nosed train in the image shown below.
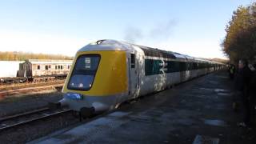
<path fill-rule="evenodd" d="M 18 126 L 27 126 L 30 125 L 30 123 L 32 122 L 38 122 L 45 120 L 47 118 L 58 117 L 62 114 L 68 114 L 71 112 L 72 110 L 70 109 L 50 110 L 49 108 L 44 107 L 38 110 L 32 110 L 22 114 L 15 114 L 5 118 L 0 118 L 0 132 L 9 129 L 15 129 Z"/>

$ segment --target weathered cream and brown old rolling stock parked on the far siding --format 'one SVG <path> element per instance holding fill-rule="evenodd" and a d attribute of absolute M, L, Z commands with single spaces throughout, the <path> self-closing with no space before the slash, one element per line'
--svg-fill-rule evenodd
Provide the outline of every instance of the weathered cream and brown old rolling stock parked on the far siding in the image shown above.
<path fill-rule="evenodd" d="M 72 62 L 72 60 L 27 59 L 19 62 L 17 71 L 14 71 L 16 67 L 12 69 L 16 77 L 2 75 L 0 83 L 41 82 L 66 78 Z"/>

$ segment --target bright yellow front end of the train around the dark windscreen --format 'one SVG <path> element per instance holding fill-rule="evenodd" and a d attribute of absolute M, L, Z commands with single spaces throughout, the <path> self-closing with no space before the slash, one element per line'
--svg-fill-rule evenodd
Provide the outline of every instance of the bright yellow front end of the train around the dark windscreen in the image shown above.
<path fill-rule="evenodd" d="M 85 82 L 82 80 L 84 77 L 81 76 L 82 72 L 80 72 L 78 73 L 77 80 L 74 80 L 78 83 L 70 83 L 74 79 L 74 70 L 77 69 L 79 58 L 85 57 L 85 60 L 82 61 L 84 62 L 83 66 L 89 66 L 89 59 L 86 59 L 86 55 L 98 55 L 100 57 L 98 68 L 95 70 L 93 78 L 87 76 L 87 82 Z M 78 52 L 74 58 L 74 64 L 71 67 L 62 92 L 73 92 L 90 96 L 120 94 L 128 90 L 127 81 L 126 51 L 82 51 Z M 72 85 L 76 86 L 76 89 L 73 89 Z"/>

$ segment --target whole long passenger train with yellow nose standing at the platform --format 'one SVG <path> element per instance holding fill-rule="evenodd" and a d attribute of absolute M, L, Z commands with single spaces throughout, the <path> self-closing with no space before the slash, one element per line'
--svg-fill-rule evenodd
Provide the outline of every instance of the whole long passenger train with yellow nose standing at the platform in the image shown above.
<path fill-rule="evenodd" d="M 100 40 L 78 50 L 58 105 L 88 115 L 221 68 L 170 51 Z"/>

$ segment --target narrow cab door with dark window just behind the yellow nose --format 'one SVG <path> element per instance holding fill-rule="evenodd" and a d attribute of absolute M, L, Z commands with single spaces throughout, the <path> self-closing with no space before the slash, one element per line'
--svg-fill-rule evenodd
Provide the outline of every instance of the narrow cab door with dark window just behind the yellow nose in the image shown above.
<path fill-rule="evenodd" d="M 130 95 L 137 96 L 138 90 L 138 60 L 136 54 L 130 54 Z"/>

